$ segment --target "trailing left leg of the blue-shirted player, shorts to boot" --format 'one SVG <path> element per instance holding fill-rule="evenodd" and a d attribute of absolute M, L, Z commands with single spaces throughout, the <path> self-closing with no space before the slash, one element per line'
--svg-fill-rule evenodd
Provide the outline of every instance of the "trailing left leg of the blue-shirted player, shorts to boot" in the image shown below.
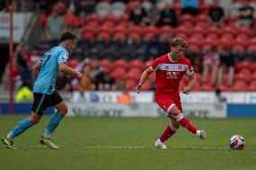
<path fill-rule="evenodd" d="M 14 138 L 21 135 L 25 130 L 31 128 L 34 124 L 41 120 L 41 115 L 46 108 L 45 94 L 34 94 L 34 100 L 32 104 L 32 113 L 28 118 L 21 121 L 14 130 L 10 131 L 5 137 L 2 137 L 3 143 L 7 148 L 14 146 Z"/>

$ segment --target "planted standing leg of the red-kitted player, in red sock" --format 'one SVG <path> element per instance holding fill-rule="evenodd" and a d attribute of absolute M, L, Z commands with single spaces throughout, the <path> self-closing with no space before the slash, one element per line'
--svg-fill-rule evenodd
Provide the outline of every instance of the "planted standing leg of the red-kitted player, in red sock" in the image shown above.
<path fill-rule="evenodd" d="M 160 138 L 155 142 L 155 146 L 157 148 L 166 148 L 165 142 L 167 139 L 169 139 L 179 128 L 178 121 L 172 117 L 170 117 L 170 124 L 167 125 L 165 130 L 163 130 L 162 134 L 160 135 Z"/>

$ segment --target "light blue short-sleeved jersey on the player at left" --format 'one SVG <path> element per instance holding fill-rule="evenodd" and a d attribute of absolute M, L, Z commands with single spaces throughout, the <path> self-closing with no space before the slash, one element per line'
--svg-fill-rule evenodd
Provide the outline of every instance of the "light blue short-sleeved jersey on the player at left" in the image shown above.
<path fill-rule="evenodd" d="M 59 63 L 67 64 L 69 52 L 61 46 L 47 51 L 41 58 L 41 68 L 33 86 L 33 93 L 52 94 L 59 76 Z"/>

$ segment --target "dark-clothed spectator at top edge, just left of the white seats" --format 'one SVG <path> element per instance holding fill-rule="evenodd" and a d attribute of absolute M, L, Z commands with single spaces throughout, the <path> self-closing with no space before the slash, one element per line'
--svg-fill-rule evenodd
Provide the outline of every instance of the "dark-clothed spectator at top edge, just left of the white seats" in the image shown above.
<path fill-rule="evenodd" d="M 95 0 L 77 0 L 75 1 L 76 14 L 87 15 L 95 13 L 96 1 Z"/>

